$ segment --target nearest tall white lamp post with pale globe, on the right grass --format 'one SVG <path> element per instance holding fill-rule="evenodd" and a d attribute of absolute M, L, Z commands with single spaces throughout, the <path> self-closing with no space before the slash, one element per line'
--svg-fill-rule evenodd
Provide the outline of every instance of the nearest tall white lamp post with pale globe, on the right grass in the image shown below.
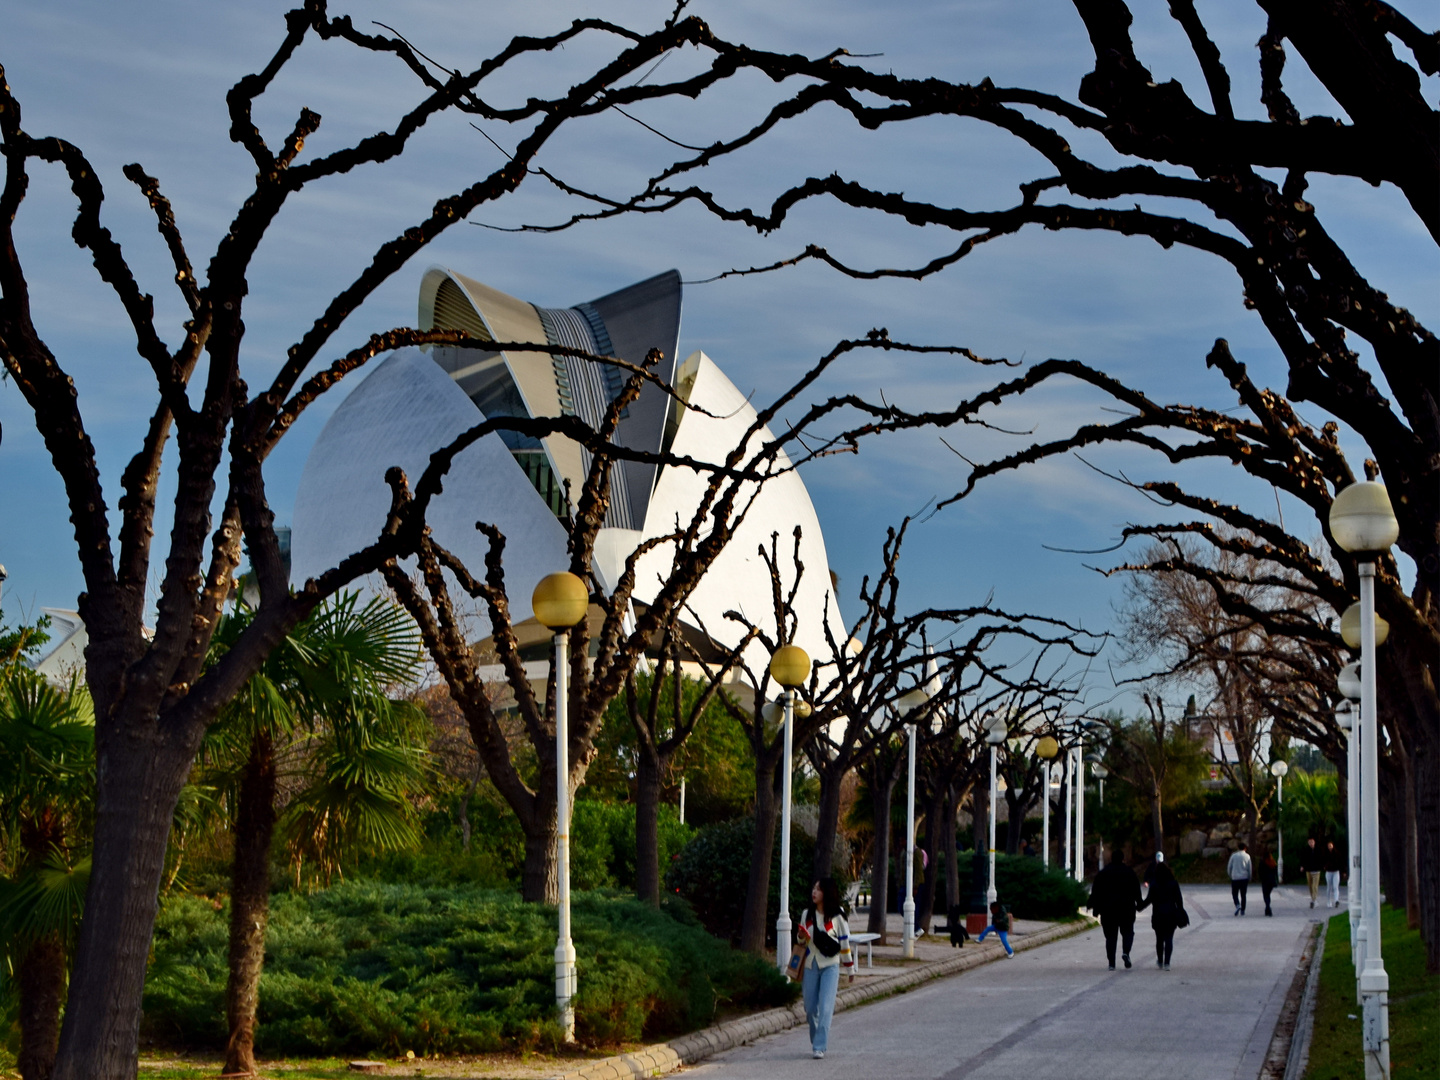
<path fill-rule="evenodd" d="M 1390 975 L 1380 948 L 1380 711 L 1375 706 L 1375 559 L 1400 536 L 1385 485 L 1351 484 L 1331 504 L 1331 536 L 1359 556 L 1361 825 L 1368 923 L 1359 976 L 1367 1080 L 1390 1080 Z M 1341 619 L 1345 634 L 1345 619 Z"/>

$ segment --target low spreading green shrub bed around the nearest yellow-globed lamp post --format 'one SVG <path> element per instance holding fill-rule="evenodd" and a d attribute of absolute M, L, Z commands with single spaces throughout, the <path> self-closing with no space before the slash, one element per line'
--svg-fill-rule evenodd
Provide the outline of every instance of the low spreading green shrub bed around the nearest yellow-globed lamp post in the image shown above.
<path fill-rule="evenodd" d="M 225 1045 L 228 913 L 176 897 L 156 926 L 145 1034 Z M 658 1038 L 793 998 L 769 963 L 632 900 L 577 894 L 582 1041 Z M 472 886 L 350 881 L 274 897 L 256 1045 L 268 1054 L 553 1047 L 554 909 Z"/>

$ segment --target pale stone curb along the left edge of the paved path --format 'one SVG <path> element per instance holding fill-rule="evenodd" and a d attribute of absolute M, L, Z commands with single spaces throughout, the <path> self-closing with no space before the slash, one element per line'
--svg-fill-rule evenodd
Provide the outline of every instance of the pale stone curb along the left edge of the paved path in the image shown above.
<path fill-rule="evenodd" d="M 1017 939 L 1014 942 L 1015 952 L 1035 949 L 1061 937 L 1084 933 L 1094 926 L 1099 926 L 1099 923 L 1089 917 L 1081 917 L 1073 923 L 1057 923 Z M 981 946 L 978 949 L 972 946 L 971 949 L 960 950 L 958 956 L 945 960 L 932 960 L 894 975 L 870 976 L 863 984 L 847 986 L 835 995 L 835 1012 L 844 1012 L 876 998 L 903 994 L 913 986 L 943 979 L 949 975 L 959 975 L 971 968 L 996 960 L 1004 955 L 999 946 Z M 780 1008 L 730 1020 L 711 1028 L 691 1031 L 688 1035 L 680 1035 L 668 1043 L 641 1047 L 629 1054 L 618 1054 L 616 1057 L 592 1061 L 583 1068 L 559 1073 L 553 1080 L 639 1080 L 641 1077 L 665 1076 L 681 1066 L 693 1066 L 714 1054 L 753 1043 L 765 1035 L 773 1035 L 778 1031 L 799 1027 L 804 1022 L 805 1007 L 796 1001 Z"/>

